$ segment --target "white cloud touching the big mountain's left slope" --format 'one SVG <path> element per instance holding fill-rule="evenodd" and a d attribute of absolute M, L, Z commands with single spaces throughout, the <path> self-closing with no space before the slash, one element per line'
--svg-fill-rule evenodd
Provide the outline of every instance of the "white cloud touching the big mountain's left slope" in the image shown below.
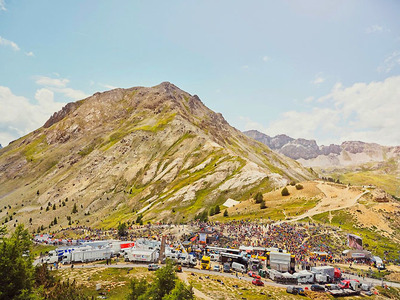
<path fill-rule="evenodd" d="M 35 98 L 37 104 L 13 94 L 8 87 L 0 86 L 0 143 L 3 146 L 41 127 L 66 104 L 55 102 L 54 94 L 47 89 L 36 91 Z"/>

